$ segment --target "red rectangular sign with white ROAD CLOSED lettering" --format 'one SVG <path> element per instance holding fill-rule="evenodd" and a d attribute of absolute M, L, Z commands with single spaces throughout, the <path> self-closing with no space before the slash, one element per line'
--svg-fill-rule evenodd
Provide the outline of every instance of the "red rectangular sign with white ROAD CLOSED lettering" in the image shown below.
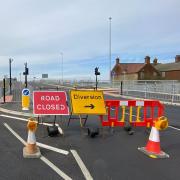
<path fill-rule="evenodd" d="M 37 115 L 69 115 L 65 91 L 34 91 L 33 113 Z"/>

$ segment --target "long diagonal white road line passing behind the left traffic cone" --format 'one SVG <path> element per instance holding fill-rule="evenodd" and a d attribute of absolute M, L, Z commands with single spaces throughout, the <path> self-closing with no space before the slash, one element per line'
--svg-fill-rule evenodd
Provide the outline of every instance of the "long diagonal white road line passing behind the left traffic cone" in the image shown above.
<path fill-rule="evenodd" d="M 4 123 L 4 126 L 17 138 L 22 144 L 26 145 L 26 142 L 7 124 Z M 68 175 L 66 175 L 63 171 L 61 171 L 57 166 L 55 166 L 51 161 L 49 161 L 46 157 L 41 156 L 40 159 L 47 164 L 51 169 L 53 169 L 59 176 L 61 176 L 65 180 L 72 180 Z"/>

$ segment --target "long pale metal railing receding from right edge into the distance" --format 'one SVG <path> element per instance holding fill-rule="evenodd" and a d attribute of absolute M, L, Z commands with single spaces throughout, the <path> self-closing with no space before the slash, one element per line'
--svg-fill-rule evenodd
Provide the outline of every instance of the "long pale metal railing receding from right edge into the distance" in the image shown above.
<path fill-rule="evenodd" d="M 64 80 L 62 84 L 59 80 L 41 79 L 38 82 L 85 89 L 94 89 L 96 84 L 95 80 Z M 98 88 L 110 89 L 125 96 L 180 103 L 180 81 L 176 80 L 99 80 Z"/>

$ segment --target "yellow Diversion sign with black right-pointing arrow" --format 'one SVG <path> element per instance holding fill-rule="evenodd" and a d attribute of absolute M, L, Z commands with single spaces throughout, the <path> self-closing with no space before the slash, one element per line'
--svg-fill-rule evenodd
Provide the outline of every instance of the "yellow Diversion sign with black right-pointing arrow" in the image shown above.
<path fill-rule="evenodd" d="M 73 114 L 106 114 L 103 91 L 71 90 Z"/>

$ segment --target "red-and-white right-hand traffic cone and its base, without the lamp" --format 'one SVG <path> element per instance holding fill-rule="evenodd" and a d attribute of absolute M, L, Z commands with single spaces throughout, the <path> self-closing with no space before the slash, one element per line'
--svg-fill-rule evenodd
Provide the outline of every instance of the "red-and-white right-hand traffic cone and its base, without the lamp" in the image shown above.
<path fill-rule="evenodd" d="M 168 158 L 169 155 L 161 151 L 159 130 L 152 126 L 149 140 L 146 147 L 138 148 L 141 152 L 145 153 L 151 158 Z"/>

